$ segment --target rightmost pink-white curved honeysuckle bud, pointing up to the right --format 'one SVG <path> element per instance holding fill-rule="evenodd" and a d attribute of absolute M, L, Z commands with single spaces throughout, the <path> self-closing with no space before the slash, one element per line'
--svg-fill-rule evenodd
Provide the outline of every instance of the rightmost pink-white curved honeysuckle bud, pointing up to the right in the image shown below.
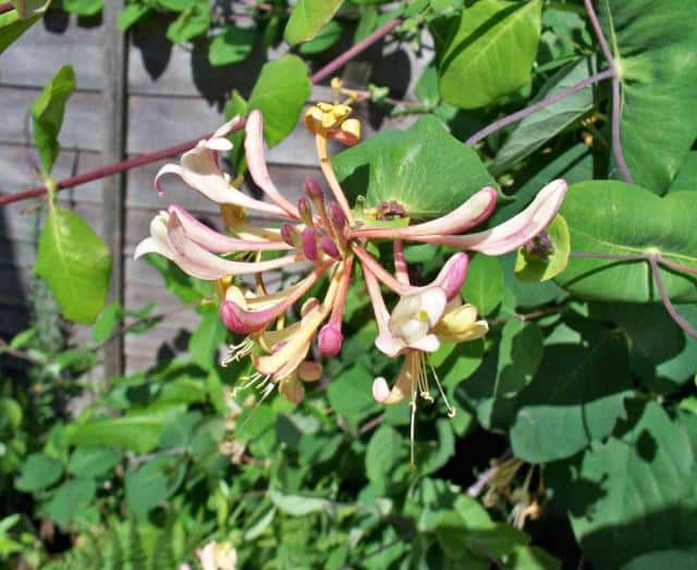
<path fill-rule="evenodd" d="M 552 222 L 561 208 L 566 189 L 566 181 L 551 182 L 525 210 L 485 232 L 464 236 L 414 236 L 409 239 L 480 251 L 488 256 L 501 256 L 522 247 Z"/>

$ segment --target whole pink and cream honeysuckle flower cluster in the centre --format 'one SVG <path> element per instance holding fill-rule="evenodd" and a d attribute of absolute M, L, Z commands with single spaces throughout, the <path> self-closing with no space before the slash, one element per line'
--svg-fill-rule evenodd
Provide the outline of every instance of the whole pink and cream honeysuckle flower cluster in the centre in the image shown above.
<path fill-rule="evenodd" d="M 278 387 L 293 402 L 303 399 L 304 382 L 315 382 L 321 376 L 321 364 L 310 356 L 313 344 L 326 357 L 341 351 L 346 294 L 359 264 L 378 324 L 375 344 L 387 356 L 403 358 L 391 387 L 384 377 L 375 380 L 375 399 L 389 405 L 408 398 L 414 418 L 419 397 L 432 401 L 429 388 L 432 377 L 452 416 L 454 409 L 445 399 L 428 355 L 442 343 L 473 340 L 488 330 L 486 321 L 477 319 L 475 307 L 464 302 L 460 295 L 467 274 L 465 251 L 499 256 L 528 244 L 557 215 L 566 183 L 558 179 L 548 184 L 524 211 L 478 233 L 467 232 L 493 212 L 497 191 L 490 187 L 482 188 L 454 211 L 425 223 L 387 227 L 358 219 L 328 153 L 329 140 L 344 145 L 359 140 L 360 124 L 351 119 L 351 112 L 347 104 L 318 103 L 305 114 L 305 126 L 315 137 L 319 165 L 330 193 L 326 196 L 320 183 L 307 179 L 297 203 L 283 197 L 269 176 L 262 116 L 258 111 L 249 113 L 244 123 L 244 147 L 249 174 L 268 201 L 241 191 L 220 168 L 221 153 L 232 148 L 227 135 L 241 127 L 244 120 L 235 117 L 220 127 L 211 138 L 184 153 L 179 165 L 163 166 L 155 186 L 161 193 L 164 175 L 180 176 L 187 186 L 220 205 L 229 235 L 209 228 L 183 208 L 170 206 L 152 220 L 150 237 L 138 245 L 135 257 L 159 253 L 189 275 L 216 282 L 220 318 L 228 329 L 243 337 L 230 347 L 227 361 L 249 357 L 254 367 L 243 387 L 260 387 L 265 396 Z M 402 210 L 399 203 L 386 206 L 392 213 Z M 247 214 L 271 218 L 276 223 L 254 225 L 247 221 Z M 368 252 L 371 240 L 392 241 L 392 269 Z M 404 240 L 462 251 L 447 261 L 431 283 L 414 285 L 403 253 Z M 274 252 L 276 257 L 269 258 L 266 252 Z M 264 273 L 298 263 L 307 268 L 305 276 L 281 290 L 266 290 L 260 278 Z M 243 275 L 256 275 L 256 287 L 235 281 Z M 307 297 L 323 280 L 327 281 L 323 295 Z M 391 310 L 384 302 L 383 289 L 398 296 Z M 298 320 L 288 324 L 285 315 L 293 307 Z"/>

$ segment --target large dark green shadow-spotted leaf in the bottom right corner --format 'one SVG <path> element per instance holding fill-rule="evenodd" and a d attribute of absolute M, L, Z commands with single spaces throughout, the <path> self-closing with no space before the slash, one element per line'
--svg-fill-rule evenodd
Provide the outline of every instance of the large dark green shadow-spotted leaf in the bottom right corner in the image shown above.
<path fill-rule="evenodd" d="M 629 401 L 627 412 L 617 435 L 584 454 L 575 475 L 560 464 L 549 476 L 584 554 L 598 568 L 620 568 L 644 553 L 694 547 L 697 541 L 687 433 L 656 402 Z"/>

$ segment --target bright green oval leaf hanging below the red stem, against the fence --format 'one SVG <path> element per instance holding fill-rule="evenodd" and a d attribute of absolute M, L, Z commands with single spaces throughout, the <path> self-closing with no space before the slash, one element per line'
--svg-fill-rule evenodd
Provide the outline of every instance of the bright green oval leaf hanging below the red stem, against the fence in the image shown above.
<path fill-rule="evenodd" d="M 63 317 L 91 323 L 107 300 L 109 248 L 77 214 L 51 207 L 34 271 L 44 277 Z"/>

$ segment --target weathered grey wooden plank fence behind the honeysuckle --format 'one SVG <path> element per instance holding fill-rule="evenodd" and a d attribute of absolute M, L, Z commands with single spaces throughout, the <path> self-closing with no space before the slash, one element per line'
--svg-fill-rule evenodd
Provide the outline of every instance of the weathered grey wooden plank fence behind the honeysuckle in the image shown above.
<path fill-rule="evenodd" d="M 265 61 L 260 49 L 243 64 L 211 67 L 205 41 L 189 50 L 167 41 L 163 18 L 151 18 L 137 26 L 124 46 L 111 25 L 112 11 L 115 12 L 119 3 L 107 2 L 103 21 L 102 16 L 77 18 L 49 12 L 0 55 L 0 191 L 17 191 L 37 184 L 35 164 L 38 161 L 30 144 L 28 113 L 42 86 L 62 64 L 73 65 L 77 89 L 66 107 L 60 136 L 63 151 L 54 168 L 56 178 L 113 162 L 122 150 L 133 156 L 210 133 L 223 121 L 222 108 L 230 91 L 235 88 L 243 95 L 248 94 Z M 384 49 L 372 48 L 353 64 L 353 73 L 391 85 L 398 95 L 407 92 L 418 78 L 424 61 L 411 58 L 407 50 Z M 271 54 L 276 55 L 278 53 Z M 121 71 L 124 80 L 120 80 Z M 316 86 L 310 99 L 329 97 L 327 86 Z M 123 131 L 120 106 L 125 114 Z M 367 114 L 366 117 L 364 127 L 368 135 L 388 123 L 390 128 L 399 128 L 411 122 L 382 121 Z M 314 144 L 303 128 L 272 149 L 268 159 L 272 178 L 291 197 L 298 196 L 305 177 L 319 175 Z M 179 306 L 178 299 L 162 287 L 159 274 L 144 261 L 133 260 L 134 247 L 147 235 L 149 221 L 157 211 L 176 202 L 201 219 L 218 222 L 217 207 L 186 189 L 175 177 L 167 181 L 166 199 L 156 195 L 152 179 L 163 163 L 130 171 L 123 187 L 115 178 L 62 193 L 61 200 L 113 246 L 115 267 L 121 267 L 121 260 L 123 269 L 114 275 L 112 292 L 117 295 L 122 292 L 124 305 L 131 309 L 150 301 L 157 302 L 158 312 L 172 311 Z M 3 336 L 16 333 L 28 322 L 30 271 L 40 224 L 36 210 L 30 211 L 33 203 L 0 209 L 0 334 Z M 118 248 L 121 228 L 122 247 Z M 196 323 L 197 317 L 192 310 L 180 311 L 150 334 L 127 336 L 123 346 L 114 345 L 111 355 L 107 355 L 109 372 L 118 373 L 122 363 L 126 372 L 149 365 L 164 345 L 174 352 L 185 350 L 185 343 L 178 338 L 182 331 L 191 330 Z M 87 330 L 75 326 L 73 334 L 75 339 L 81 339 Z"/>

